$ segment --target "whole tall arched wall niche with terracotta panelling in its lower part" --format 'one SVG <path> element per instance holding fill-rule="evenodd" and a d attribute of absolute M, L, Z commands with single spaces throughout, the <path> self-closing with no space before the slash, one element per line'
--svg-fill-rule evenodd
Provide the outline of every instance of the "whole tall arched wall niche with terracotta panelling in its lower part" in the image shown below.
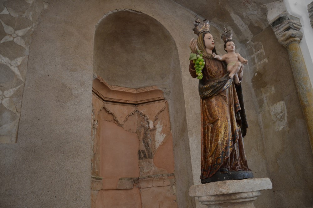
<path fill-rule="evenodd" d="M 172 203 L 170 207 L 190 203 L 185 197 L 192 184 L 192 168 L 190 155 L 186 154 L 189 141 L 182 76 L 178 50 L 170 33 L 156 19 L 144 13 L 132 10 L 108 13 L 99 22 L 95 31 L 93 72 L 96 77 L 93 84 L 94 108 L 105 105 L 112 108 L 110 111 L 114 112 L 116 118 L 121 119 L 121 125 L 116 122 L 114 125 L 109 124 L 110 119 L 106 118 L 106 114 L 93 119 L 98 125 L 94 133 L 93 167 L 99 167 L 99 170 L 93 170 L 93 175 L 98 174 L 97 176 L 103 178 L 102 186 L 98 190 L 100 196 L 98 195 L 97 199 L 105 198 L 105 195 L 112 195 L 111 198 L 114 199 L 114 195 L 122 194 L 125 199 L 133 195 L 135 201 L 142 202 L 134 204 L 133 207 L 150 207 L 149 203 L 162 203 L 147 200 L 150 193 L 149 191 L 144 193 L 144 189 L 151 186 L 145 187 L 144 184 L 151 183 L 151 191 L 164 196 L 172 195 L 172 199 L 168 199 L 167 202 Z M 100 95 L 100 85 L 106 86 L 107 91 L 103 96 Z M 142 92 L 148 95 L 147 98 L 139 95 Z M 132 99 L 127 101 L 121 96 L 132 96 Z M 140 102 L 136 99 L 139 97 Z M 131 121 L 127 120 L 130 112 L 137 111 L 146 115 L 147 124 L 142 123 L 140 115 L 131 116 Z M 126 125 L 123 120 L 127 120 Z M 138 148 L 138 165 L 134 167 L 137 172 L 139 171 L 138 174 L 136 171 L 133 171 L 132 175 L 122 175 L 116 171 L 114 176 L 104 173 L 104 170 L 110 172 L 108 171 L 110 166 L 114 168 L 114 162 L 102 167 L 101 160 L 118 158 L 116 160 L 121 162 L 123 161 L 121 154 L 126 152 L 114 147 L 117 156 L 106 155 L 106 159 L 105 156 L 96 153 L 109 152 L 105 145 L 114 145 L 108 138 L 101 139 L 100 135 L 102 132 L 106 137 L 110 136 L 108 131 L 111 129 L 119 132 L 114 134 L 115 137 L 117 134 L 121 136 L 125 134 L 125 137 L 135 138 L 129 144 L 132 144 L 132 148 Z M 122 141 L 121 138 L 115 137 L 115 140 Z M 135 141 L 136 138 L 139 141 L 138 139 Z M 101 144 L 103 141 L 106 144 Z M 121 146 L 128 148 L 131 145 Z M 110 152 L 114 154 L 113 151 Z M 134 153 L 136 151 L 128 149 L 127 160 L 135 158 Z M 122 172 L 123 165 L 118 167 Z M 131 170 L 129 165 L 125 167 Z M 105 183 L 111 186 L 106 186 Z M 133 188 L 135 186 L 137 187 Z M 110 205 L 111 202 L 105 203 Z"/>

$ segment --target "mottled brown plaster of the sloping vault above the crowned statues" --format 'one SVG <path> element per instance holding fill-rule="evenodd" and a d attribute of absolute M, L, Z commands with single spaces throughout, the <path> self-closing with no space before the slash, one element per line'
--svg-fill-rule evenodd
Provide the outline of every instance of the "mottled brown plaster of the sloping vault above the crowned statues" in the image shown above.
<path fill-rule="evenodd" d="M 267 26 L 264 3 L 272 1 L 175 0 L 199 16 L 214 22 L 219 28 L 230 27 L 242 42 L 249 41 Z M 223 15 L 217 15 L 223 14 Z"/>

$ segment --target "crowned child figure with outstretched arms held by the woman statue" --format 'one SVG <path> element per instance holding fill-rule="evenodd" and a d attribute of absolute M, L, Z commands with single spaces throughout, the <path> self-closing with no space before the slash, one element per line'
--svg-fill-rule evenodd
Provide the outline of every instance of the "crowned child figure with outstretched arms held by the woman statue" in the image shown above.
<path fill-rule="evenodd" d="M 233 34 L 232 31 L 225 31 L 222 35 L 222 39 L 224 40 L 224 50 L 227 52 L 223 56 L 216 55 L 213 53 L 213 57 L 220 60 L 226 61 L 227 63 L 227 71 L 229 72 L 229 77 L 234 79 L 235 84 L 239 84 L 238 73 L 240 77 L 243 74 L 243 66 L 242 63 L 247 64 L 248 60 L 244 59 L 239 53 L 235 53 L 235 44 L 233 42 Z"/>

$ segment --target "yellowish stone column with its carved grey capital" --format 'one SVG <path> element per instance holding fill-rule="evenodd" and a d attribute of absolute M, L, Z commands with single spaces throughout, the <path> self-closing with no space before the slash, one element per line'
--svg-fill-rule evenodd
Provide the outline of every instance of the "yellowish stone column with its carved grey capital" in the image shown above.
<path fill-rule="evenodd" d="M 313 152 L 313 89 L 299 46 L 303 37 L 302 32 L 300 31 L 300 19 L 289 13 L 281 13 L 270 22 L 270 25 L 272 26 L 279 43 L 288 50 L 295 85 L 298 91 Z"/>

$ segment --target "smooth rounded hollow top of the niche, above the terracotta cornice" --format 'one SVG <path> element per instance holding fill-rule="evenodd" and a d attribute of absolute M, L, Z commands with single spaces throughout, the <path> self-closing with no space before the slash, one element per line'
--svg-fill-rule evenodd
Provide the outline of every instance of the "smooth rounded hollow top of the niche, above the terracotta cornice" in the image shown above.
<path fill-rule="evenodd" d="M 107 83 L 130 88 L 169 84 L 179 66 L 173 38 L 149 15 L 122 10 L 98 24 L 94 72 Z"/>

